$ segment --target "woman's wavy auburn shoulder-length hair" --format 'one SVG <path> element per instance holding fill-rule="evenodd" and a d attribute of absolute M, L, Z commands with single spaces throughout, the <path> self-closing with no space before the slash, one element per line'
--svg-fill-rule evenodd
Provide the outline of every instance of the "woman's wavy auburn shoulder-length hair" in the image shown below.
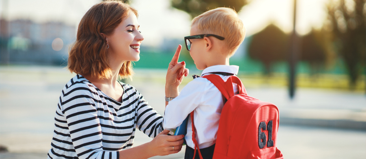
<path fill-rule="evenodd" d="M 108 46 L 101 33 L 113 34 L 130 11 L 138 16 L 136 9 L 121 1 L 103 1 L 91 7 L 79 23 L 76 41 L 69 52 L 68 70 L 99 79 L 110 78 L 113 72 L 108 65 Z M 120 78 L 132 74 L 132 62 L 125 61 L 119 70 Z"/>

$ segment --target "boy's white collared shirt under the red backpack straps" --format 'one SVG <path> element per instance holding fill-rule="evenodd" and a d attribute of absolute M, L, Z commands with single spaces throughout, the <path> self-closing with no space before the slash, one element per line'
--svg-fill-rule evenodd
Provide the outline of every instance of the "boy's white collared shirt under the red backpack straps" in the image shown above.
<path fill-rule="evenodd" d="M 201 76 L 209 75 L 210 72 L 226 72 L 238 74 L 239 66 L 235 65 L 215 65 L 207 67 L 202 71 Z M 218 74 L 224 81 L 229 76 Z M 234 92 L 238 88 L 233 84 Z M 236 94 L 235 93 L 235 94 Z M 219 128 L 219 119 L 221 110 L 224 106 L 223 96 L 206 78 L 195 78 L 189 82 L 179 96 L 174 98 L 165 108 L 163 120 L 164 129 L 176 129 L 183 120 L 194 110 L 194 125 L 196 128 L 196 139 L 199 148 L 210 147 L 216 143 L 217 130 Z M 185 136 L 187 145 L 194 148 L 192 141 L 192 122 L 189 117 L 187 123 L 187 134 Z"/>

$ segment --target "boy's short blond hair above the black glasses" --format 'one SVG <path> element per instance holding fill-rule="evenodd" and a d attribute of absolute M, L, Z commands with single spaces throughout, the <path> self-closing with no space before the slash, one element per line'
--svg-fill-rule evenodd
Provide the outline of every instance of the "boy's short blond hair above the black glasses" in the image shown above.
<path fill-rule="evenodd" d="M 224 37 L 227 55 L 234 55 L 243 42 L 245 28 L 238 13 L 234 9 L 220 7 L 209 10 L 195 17 L 192 26 L 196 26 L 199 34 L 215 34 Z"/>

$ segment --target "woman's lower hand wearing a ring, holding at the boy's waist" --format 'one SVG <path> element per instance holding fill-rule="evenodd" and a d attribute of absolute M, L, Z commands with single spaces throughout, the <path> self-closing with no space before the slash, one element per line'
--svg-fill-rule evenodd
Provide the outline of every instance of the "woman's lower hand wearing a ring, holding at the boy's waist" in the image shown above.
<path fill-rule="evenodd" d="M 175 154 L 182 149 L 184 135 L 168 136 L 168 133 L 169 130 L 164 130 L 154 137 L 152 141 L 150 141 L 150 150 L 154 156 Z"/>

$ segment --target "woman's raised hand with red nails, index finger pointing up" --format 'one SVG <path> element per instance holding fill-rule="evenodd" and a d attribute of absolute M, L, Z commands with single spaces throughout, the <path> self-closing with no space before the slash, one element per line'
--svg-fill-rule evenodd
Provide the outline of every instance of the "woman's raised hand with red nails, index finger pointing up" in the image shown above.
<path fill-rule="evenodd" d="M 178 96 L 178 86 L 182 83 L 183 77 L 189 73 L 186 63 L 184 61 L 178 62 L 181 49 L 182 45 L 178 45 L 177 51 L 175 51 L 172 61 L 169 63 L 165 79 L 165 95 L 171 98 Z"/>

